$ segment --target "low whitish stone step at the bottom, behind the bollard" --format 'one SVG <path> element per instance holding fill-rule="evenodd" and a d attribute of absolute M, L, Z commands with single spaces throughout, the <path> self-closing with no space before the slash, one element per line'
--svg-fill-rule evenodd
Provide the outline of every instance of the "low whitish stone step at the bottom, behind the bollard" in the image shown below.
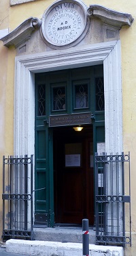
<path fill-rule="evenodd" d="M 28 241 L 10 239 L 6 242 L 8 253 L 18 253 L 32 256 L 82 256 L 81 243 L 62 243 L 50 241 Z M 119 246 L 89 245 L 91 256 L 124 256 L 123 248 Z"/>

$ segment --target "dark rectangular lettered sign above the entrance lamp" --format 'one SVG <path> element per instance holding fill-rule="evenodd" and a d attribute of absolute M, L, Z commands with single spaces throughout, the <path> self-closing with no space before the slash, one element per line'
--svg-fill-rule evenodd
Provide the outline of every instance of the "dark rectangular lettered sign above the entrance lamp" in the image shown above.
<path fill-rule="evenodd" d="M 49 116 L 49 127 L 91 124 L 91 113 Z"/>

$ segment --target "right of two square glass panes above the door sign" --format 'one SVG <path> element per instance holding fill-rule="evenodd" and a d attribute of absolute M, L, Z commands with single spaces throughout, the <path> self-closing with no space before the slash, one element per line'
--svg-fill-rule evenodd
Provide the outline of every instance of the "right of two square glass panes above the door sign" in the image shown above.
<path fill-rule="evenodd" d="M 78 84 L 74 86 L 75 108 L 88 107 L 88 84 Z"/>

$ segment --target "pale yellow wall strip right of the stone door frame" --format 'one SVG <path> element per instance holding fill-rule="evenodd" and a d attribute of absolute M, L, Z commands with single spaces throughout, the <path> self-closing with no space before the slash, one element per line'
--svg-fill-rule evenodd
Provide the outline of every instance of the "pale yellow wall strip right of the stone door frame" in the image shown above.
<path fill-rule="evenodd" d="M 135 18 L 135 17 L 134 17 Z M 123 148 L 131 152 L 131 218 L 132 247 L 126 246 L 125 255 L 135 255 L 136 246 L 136 194 L 135 194 L 135 153 L 136 153 L 136 90 L 135 90 L 135 34 L 136 23 L 131 29 L 120 31 L 122 42 L 122 110 L 123 110 Z"/>

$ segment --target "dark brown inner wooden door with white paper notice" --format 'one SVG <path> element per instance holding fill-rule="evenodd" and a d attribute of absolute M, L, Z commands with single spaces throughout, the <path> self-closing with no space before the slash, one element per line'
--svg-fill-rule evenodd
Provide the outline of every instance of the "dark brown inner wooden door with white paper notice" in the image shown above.
<path fill-rule="evenodd" d="M 93 224 L 94 182 L 93 167 L 90 168 L 90 144 L 91 125 L 80 133 L 73 131 L 72 127 L 54 131 L 56 222 L 81 224 L 82 218 L 88 218 Z M 67 161 L 65 155 L 69 157 Z"/>

